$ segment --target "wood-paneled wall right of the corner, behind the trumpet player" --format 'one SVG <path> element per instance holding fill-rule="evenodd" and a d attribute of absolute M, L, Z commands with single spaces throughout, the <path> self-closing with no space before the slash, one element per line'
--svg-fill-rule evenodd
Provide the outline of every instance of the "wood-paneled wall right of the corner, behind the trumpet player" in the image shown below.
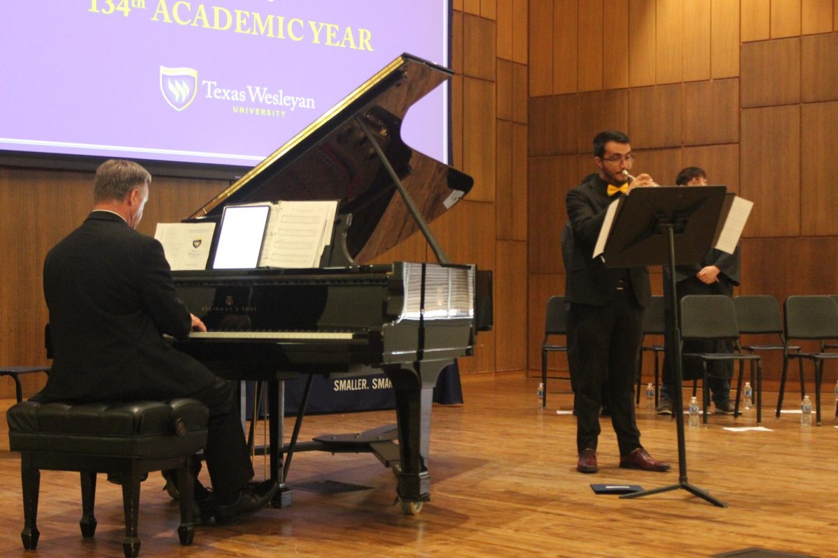
<path fill-rule="evenodd" d="M 600 130 L 627 131 L 633 173 L 684 166 L 754 202 L 738 294 L 838 293 L 838 2 L 530 0 L 529 363 L 564 292 L 564 194 Z M 636 172 L 635 172 L 636 171 Z M 660 268 L 653 289 L 660 294 Z M 557 356 L 551 366 L 566 369 Z M 777 361 L 766 362 L 779 378 Z"/>

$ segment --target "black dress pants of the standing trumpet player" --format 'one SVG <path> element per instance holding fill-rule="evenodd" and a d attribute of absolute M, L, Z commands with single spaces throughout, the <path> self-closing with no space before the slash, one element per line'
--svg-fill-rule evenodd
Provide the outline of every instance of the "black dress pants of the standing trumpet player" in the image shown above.
<path fill-rule="evenodd" d="M 640 447 L 634 419 L 634 374 L 642 339 L 643 309 L 631 289 L 603 306 L 571 304 L 568 358 L 576 387 L 577 450 L 597 448 L 599 409 L 607 397 L 620 455 Z M 603 394 L 603 381 L 608 392 Z"/>

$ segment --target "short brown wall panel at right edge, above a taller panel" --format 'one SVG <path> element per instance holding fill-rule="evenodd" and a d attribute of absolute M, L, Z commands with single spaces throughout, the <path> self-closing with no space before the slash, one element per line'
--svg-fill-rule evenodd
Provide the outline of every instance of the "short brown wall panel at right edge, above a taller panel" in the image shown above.
<path fill-rule="evenodd" d="M 803 102 L 838 100 L 838 33 L 801 38 L 800 49 Z"/>

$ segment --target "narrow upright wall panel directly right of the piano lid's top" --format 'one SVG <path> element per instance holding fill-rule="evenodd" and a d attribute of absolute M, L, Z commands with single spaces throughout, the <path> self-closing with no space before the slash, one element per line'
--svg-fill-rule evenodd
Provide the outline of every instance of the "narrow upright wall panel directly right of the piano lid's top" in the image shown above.
<path fill-rule="evenodd" d="M 474 178 L 468 199 L 494 200 L 494 83 L 463 78 L 463 171 Z"/>

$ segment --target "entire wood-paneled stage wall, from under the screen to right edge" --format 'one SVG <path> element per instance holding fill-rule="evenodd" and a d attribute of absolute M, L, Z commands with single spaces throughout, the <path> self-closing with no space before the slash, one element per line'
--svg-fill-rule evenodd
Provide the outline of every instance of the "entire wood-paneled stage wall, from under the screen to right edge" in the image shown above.
<path fill-rule="evenodd" d="M 564 193 L 592 170 L 590 141 L 608 127 L 629 133 L 635 170 L 658 182 L 696 164 L 756 203 L 742 294 L 838 292 L 838 0 L 453 7 L 453 164 L 475 186 L 432 229 L 453 261 L 494 270 L 495 293 L 494 330 L 478 335 L 464 373 L 539 368 L 544 305 L 564 291 Z M 91 172 L 0 166 L 0 365 L 46 362 L 41 265 L 85 218 L 91 183 Z M 155 177 L 140 230 L 184 218 L 225 185 Z M 381 258 L 394 259 L 433 256 L 415 236 Z M 42 384 L 24 378 L 24 391 Z M 11 381 L 0 397 L 13 397 Z"/>

